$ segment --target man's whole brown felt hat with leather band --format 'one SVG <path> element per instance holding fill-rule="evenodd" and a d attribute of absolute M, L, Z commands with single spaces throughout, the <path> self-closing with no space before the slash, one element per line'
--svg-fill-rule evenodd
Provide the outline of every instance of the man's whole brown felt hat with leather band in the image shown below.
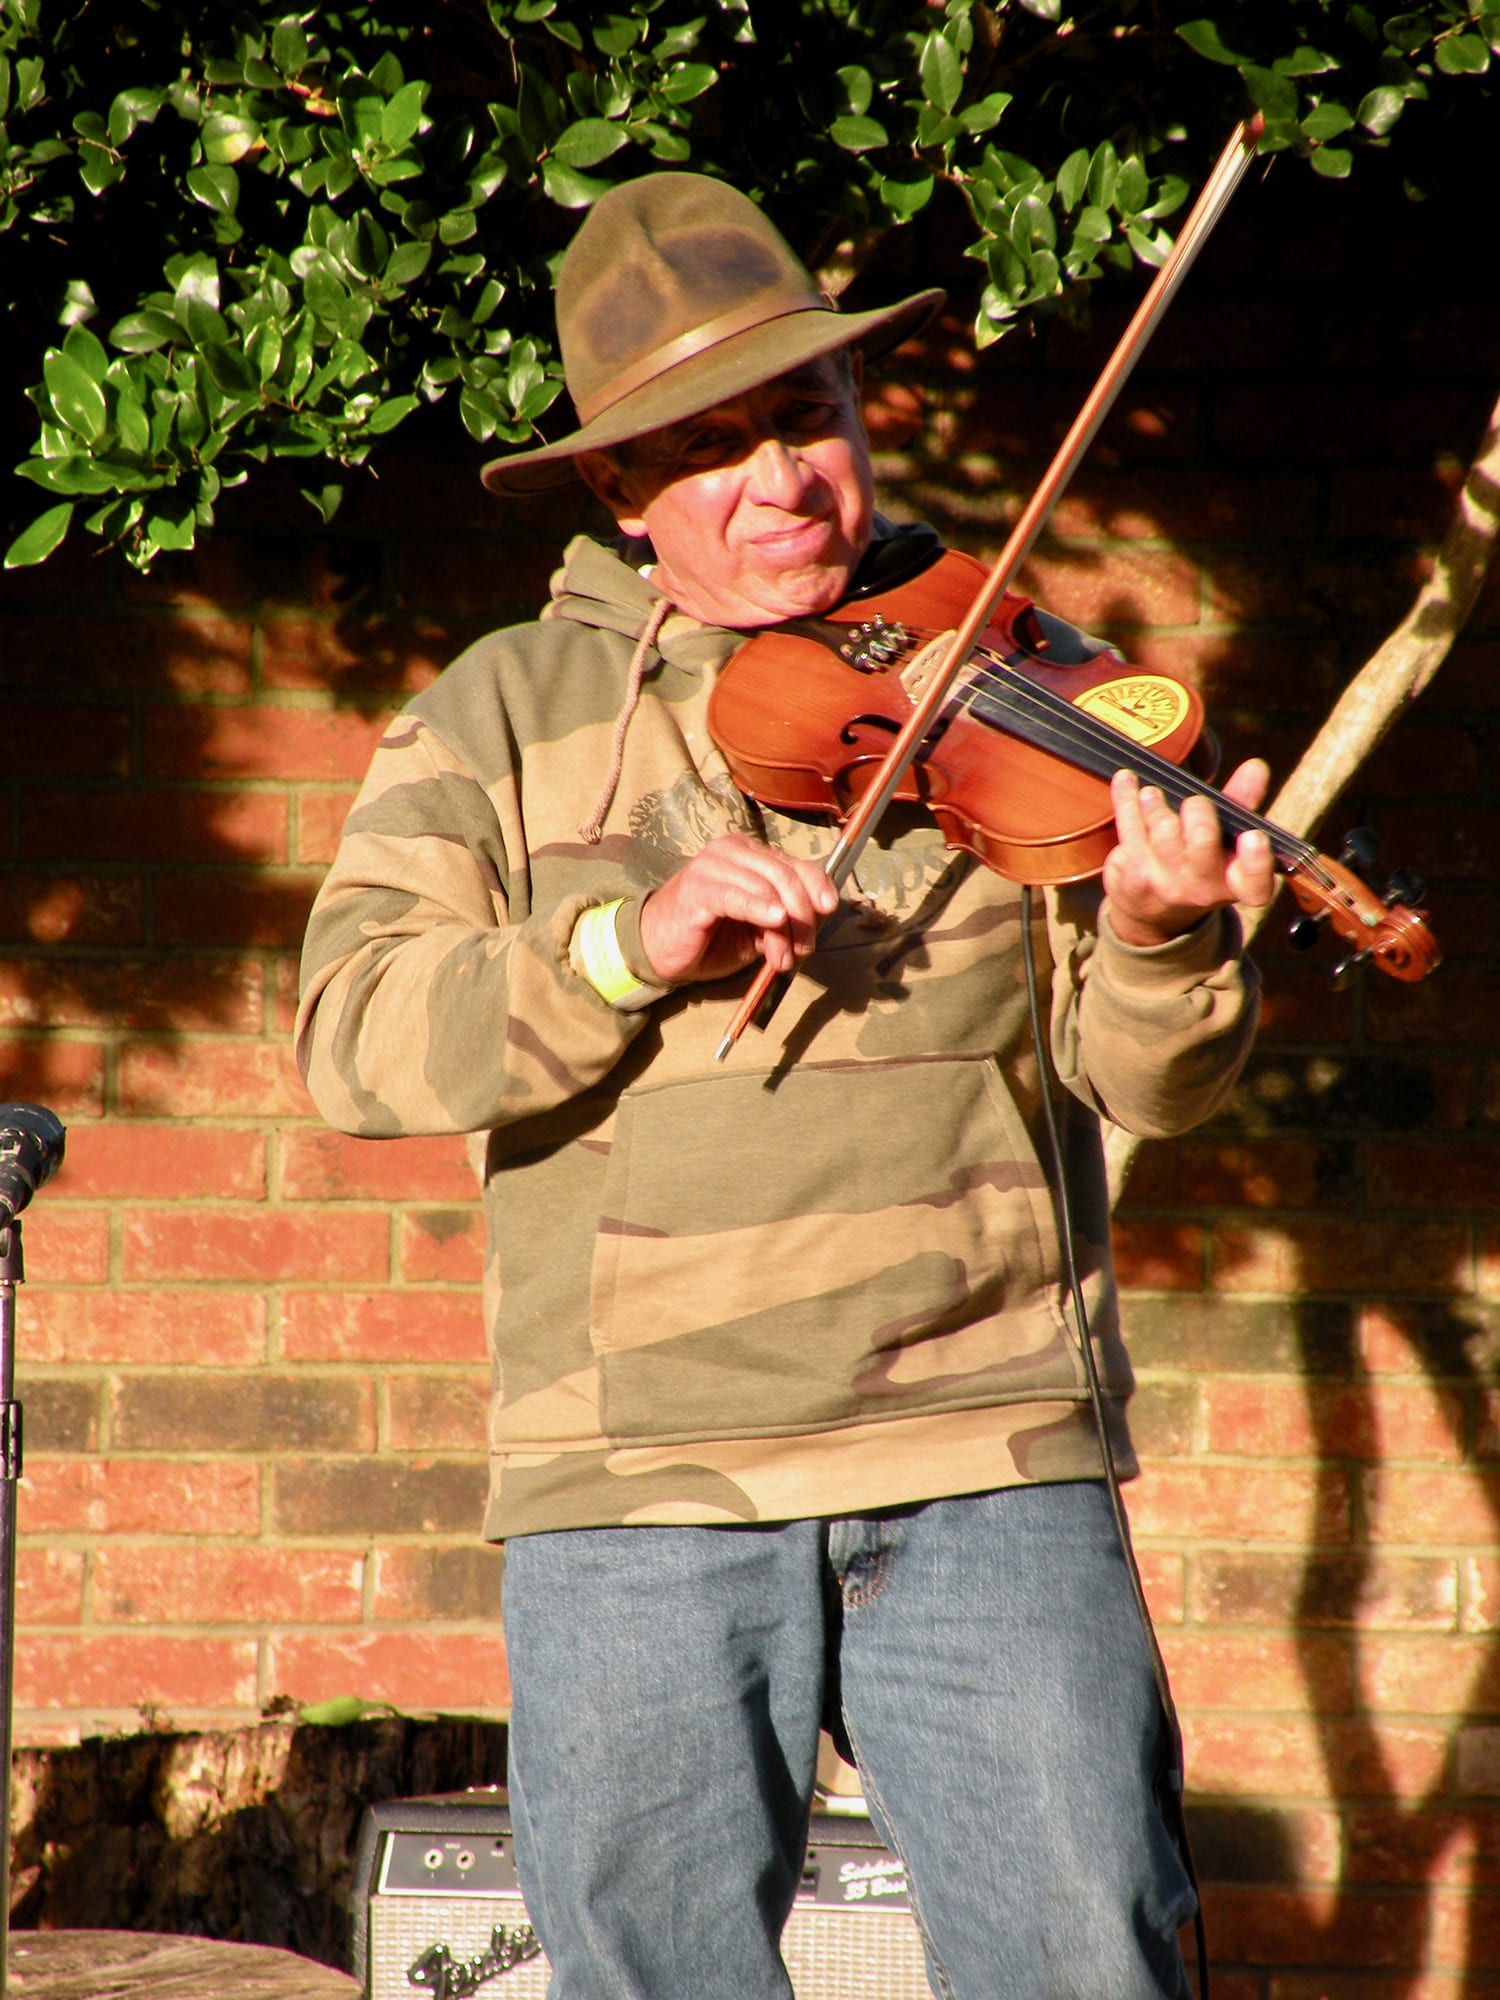
<path fill-rule="evenodd" d="M 886 354 L 942 292 L 838 312 L 752 200 L 706 174 L 646 174 L 600 196 L 562 258 L 558 342 L 578 430 L 492 460 L 496 494 L 562 486 L 574 454 L 640 438 L 858 346 Z"/>

